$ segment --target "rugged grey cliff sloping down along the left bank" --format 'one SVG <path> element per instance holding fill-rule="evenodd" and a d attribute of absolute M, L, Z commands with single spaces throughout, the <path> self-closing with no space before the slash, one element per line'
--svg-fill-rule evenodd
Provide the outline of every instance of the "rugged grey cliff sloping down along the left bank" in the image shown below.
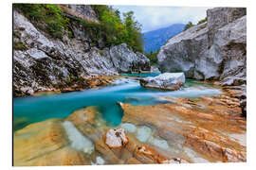
<path fill-rule="evenodd" d="M 89 16 L 97 20 L 89 6 L 72 5 L 69 9 L 72 10 L 69 17 L 74 14 L 75 17 Z M 62 40 L 53 39 L 22 13 L 13 11 L 14 96 L 72 86 L 86 88 L 91 76 L 150 70 L 149 59 L 134 53 L 126 44 L 110 48 L 102 45 L 101 49 L 92 47 L 82 26 L 74 22 L 71 28 L 72 38 L 64 34 Z"/>

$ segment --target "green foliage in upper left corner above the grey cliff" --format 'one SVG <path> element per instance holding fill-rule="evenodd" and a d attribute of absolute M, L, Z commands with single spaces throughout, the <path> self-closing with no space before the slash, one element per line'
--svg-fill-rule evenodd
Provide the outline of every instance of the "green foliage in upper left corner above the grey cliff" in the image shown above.
<path fill-rule="evenodd" d="M 63 9 L 51 4 L 14 4 L 14 8 L 21 10 L 25 16 L 35 24 L 45 23 L 46 30 L 53 38 L 62 38 L 67 28 L 69 19 L 61 12 Z"/>

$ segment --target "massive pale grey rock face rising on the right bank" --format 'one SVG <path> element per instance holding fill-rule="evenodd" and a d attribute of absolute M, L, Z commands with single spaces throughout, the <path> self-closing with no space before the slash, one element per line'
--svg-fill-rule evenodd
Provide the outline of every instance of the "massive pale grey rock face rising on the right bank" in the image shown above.
<path fill-rule="evenodd" d="M 157 56 L 161 72 L 184 72 L 186 77 L 246 78 L 246 8 L 212 8 L 208 23 L 178 34 L 161 47 Z"/>

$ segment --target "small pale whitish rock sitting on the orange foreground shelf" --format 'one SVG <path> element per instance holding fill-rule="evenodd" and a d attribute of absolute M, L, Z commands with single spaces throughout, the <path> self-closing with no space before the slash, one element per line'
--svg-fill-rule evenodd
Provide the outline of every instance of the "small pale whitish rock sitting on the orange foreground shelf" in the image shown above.
<path fill-rule="evenodd" d="M 128 143 L 128 138 L 124 133 L 123 128 L 110 129 L 106 133 L 105 143 L 110 147 L 122 147 Z"/>

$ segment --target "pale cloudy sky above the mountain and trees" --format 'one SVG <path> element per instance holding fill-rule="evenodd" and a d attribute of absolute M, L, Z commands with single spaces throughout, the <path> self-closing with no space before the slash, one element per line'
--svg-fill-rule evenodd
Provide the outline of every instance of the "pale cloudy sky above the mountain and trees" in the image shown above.
<path fill-rule="evenodd" d="M 142 25 L 142 32 L 155 30 L 173 24 L 192 24 L 206 17 L 208 8 L 185 7 L 151 7 L 151 6 L 113 6 L 120 13 L 133 10 L 138 23 Z"/>

